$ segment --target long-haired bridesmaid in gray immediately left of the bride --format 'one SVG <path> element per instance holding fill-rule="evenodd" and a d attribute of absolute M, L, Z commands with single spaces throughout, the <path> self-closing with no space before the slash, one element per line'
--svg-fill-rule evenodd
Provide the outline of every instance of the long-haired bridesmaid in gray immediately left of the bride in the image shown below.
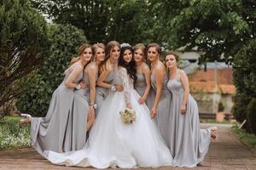
<path fill-rule="evenodd" d="M 108 42 L 105 50 L 106 58 L 100 64 L 100 76 L 97 80 L 97 92 L 96 92 L 96 105 L 98 113 L 101 109 L 104 99 L 107 98 L 110 92 L 122 91 L 121 85 L 115 85 L 115 78 L 118 59 L 120 56 L 120 44 L 116 41 Z"/>

